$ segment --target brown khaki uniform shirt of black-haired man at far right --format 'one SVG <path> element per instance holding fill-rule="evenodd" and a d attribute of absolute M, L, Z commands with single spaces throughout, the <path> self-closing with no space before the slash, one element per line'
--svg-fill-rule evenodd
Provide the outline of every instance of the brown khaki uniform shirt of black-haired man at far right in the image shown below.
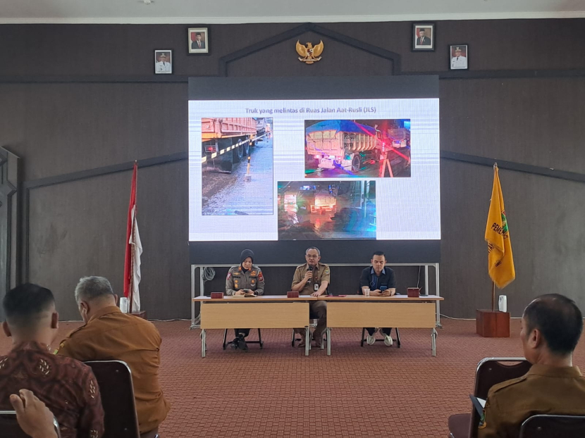
<path fill-rule="evenodd" d="M 478 438 L 517 438 L 524 420 L 536 414 L 585 415 L 585 377 L 579 368 L 532 365 L 522 377 L 494 385 Z"/>

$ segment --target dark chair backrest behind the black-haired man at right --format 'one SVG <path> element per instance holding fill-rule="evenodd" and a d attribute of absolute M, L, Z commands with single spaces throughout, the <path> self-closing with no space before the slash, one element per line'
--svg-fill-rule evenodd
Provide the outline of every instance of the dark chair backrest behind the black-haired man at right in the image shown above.
<path fill-rule="evenodd" d="M 522 377 L 530 370 L 531 363 L 525 358 L 485 358 L 477 365 L 475 373 L 474 396 L 487 399 L 488 392 L 493 385 L 506 380 Z M 477 437 L 479 414 L 472 410 L 472 420 L 469 423 L 469 437 Z"/>

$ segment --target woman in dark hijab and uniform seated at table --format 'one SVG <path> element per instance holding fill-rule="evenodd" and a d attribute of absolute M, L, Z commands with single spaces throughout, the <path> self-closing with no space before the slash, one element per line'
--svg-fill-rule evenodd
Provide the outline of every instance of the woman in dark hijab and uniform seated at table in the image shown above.
<path fill-rule="evenodd" d="M 254 295 L 264 294 L 264 275 L 258 266 L 254 266 L 254 253 L 245 249 L 240 254 L 240 264 L 232 266 L 226 277 L 226 295 L 240 296 L 250 292 Z M 241 350 L 247 350 L 245 337 L 250 334 L 250 329 L 234 329 L 235 339 L 232 346 Z"/>

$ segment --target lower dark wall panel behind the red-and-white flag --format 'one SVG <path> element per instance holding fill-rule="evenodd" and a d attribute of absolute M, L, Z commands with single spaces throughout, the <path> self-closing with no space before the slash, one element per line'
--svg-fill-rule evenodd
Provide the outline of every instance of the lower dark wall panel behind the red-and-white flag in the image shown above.
<path fill-rule="evenodd" d="M 131 172 L 32 189 L 29 279 L 51 289 L 64 320 L 79 319 L 73 291 L 80 277 L 107 277 L 123 292 Z M 142 308 L 149 318 L 189 318 L 187 166 L 138 173 Z"/>

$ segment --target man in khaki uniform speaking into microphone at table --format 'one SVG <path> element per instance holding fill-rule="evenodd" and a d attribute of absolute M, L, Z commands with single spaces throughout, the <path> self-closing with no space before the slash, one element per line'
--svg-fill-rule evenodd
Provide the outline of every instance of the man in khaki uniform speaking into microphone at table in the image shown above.
<path fill-rule="evenodd" d="M 328 265 L 319 263 L 321 260 L 321 252 L 312 246 L 304 252 L 304 258 L 307 260 L 307 263 L 298 266 L 293 276 L 293 292 L 311 296 L 324 294 L 329 286 L 330 273 Z M 309 303 L 309 310 L 318 317 L 313 337 L 316 346 L 321 347 L 323 331 L 327 327 L 327 304 L 325 301 L 311 301 Z M 296 328 L 295 332 L 302 337 L 299 346 L 304 346 L 307 342 L 307 339 L 304 337 L 304 328 Z"/>

